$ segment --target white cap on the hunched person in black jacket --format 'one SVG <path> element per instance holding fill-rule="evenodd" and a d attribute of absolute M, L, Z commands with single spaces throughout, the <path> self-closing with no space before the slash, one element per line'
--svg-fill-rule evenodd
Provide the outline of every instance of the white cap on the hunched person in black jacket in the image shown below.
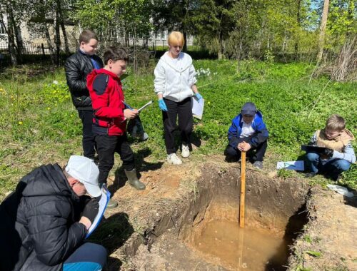
<path fill-rule="evenodd" d="M 99 197 L 99 169 L 93 160 L 80 155 L 71 155 L 66 165 L 66 173 L 84 184 L 89 195 Z"/>

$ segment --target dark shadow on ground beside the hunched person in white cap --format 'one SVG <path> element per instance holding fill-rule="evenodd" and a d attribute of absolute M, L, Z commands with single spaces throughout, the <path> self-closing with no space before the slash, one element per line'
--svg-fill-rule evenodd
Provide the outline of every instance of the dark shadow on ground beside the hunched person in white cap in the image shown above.
<path fill-rule="evenodd" d="M 89 237 L 89 242 L 103 245 L 111 255 L 134 233 L 134 228 L 129 223 L 129 215 L 116 213 L 108 219 L 102 218 L 101 224 Z M 104 270 L 120 270 L 123 263 L 116 257 L 109 257 Z"/>

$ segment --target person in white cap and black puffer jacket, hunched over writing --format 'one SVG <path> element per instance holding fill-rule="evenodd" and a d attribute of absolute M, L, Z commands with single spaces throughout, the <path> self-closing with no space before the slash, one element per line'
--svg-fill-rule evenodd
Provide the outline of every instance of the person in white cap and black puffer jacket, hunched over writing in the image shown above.
<path fill-rule="evenodd" d="M 101 270 L 106 249 L 84 243 L 101 190 L 93 160 L 41 165 L 0 205 L 0 270 Z"/>

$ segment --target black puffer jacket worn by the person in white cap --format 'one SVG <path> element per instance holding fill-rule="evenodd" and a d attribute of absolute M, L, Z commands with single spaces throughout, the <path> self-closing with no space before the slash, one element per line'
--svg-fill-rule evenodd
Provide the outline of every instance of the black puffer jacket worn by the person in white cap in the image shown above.
<path fill-rule="evenodd" d="M 86 236 L 79 205 L 57 164 L 22 178 L 0 205 L 0 270 L 62 270 Z"/>

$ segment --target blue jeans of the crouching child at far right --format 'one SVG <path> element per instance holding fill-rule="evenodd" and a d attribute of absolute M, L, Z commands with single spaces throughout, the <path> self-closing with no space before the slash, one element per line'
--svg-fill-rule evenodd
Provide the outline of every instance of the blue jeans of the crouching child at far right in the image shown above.
<path fill-rule="evenodd" d="M 348 160 L 330 158 L 321 159 L 318 153 L 306 153 L 308 167 L 312 173 L 326 173 L 330 175 L 333 180 L 338 178 L 343 171 L 350 168 L 351 163 Z"/>

